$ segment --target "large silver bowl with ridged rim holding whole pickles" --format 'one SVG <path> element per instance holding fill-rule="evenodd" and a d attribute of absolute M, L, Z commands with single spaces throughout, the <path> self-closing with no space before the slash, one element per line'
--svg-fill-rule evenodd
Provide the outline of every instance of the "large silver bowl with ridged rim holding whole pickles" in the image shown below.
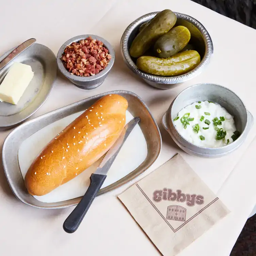
<path fill-rule="evenodd" d="M 195 47 L 195 50 L 197 50 L 197 52 L 200 54 L 201 63 L 190 72 L 184 75 L 174 76 L 174 77 L 156 76 L 156 75 L 151 75 L 141 71 L 136 66 L 136 59 L 131 58 L 129 49 L 133 39 L 139 32 L 140 26 L 144 22 L 151 20 L 157 13 L 159 12 L 148 13 L 146 15 L 143 15 L 137 20 L 134 20 L 126 28 L 121 38 L 121 43 L 120 43 L 121 53 L 127 66 L 133 71 L 133 73 L 137 74 L 142 79 L 144 79 L 146 83 L 159 89 L 170 89 L 174 87 L 174 84 L 185 82 L 199 75 L 203 71 L 204 67 L 209 62 L 210 57 L 213 53 L 213 44 L 207 30 L 198 20 L 192 18 L 189 15 L 175 12 L 177 16 L 177 22 L 175 26 L 181 25 L 189 29 L 191 34 L 190 43 L 193 44 L 193 46 Z"/>

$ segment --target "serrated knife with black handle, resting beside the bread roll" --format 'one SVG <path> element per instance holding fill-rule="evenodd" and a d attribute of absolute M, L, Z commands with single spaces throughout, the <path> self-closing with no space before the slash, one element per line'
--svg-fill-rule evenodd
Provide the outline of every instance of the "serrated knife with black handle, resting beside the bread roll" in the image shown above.
<path fill-rule="evenodd" d="M 126 141 L 127 137 L 131 133 L 132 129 L 137 125 L 140 121 L 139 117 L 133 118 L 123 129 L 120 136 L 114 143 L 114 145 L 108 150 L 105 157 L 101 161 L 99 167 L 96 171 L 91 175 L 90 186 L 84 194 L 83 198 L 76 206 L 76 208 L 69 214 L 65 222 L 63 223 L 63 229 L 67 233 L 74 233 L 82 222 L 86 212 L 90 208 L 94 198 L 99 192 L 103 182 L 107 178 L 107 172 L 110 169 L 112 163 L 114 162 L 116 156 L 118 155 L 121 147 Z"/>

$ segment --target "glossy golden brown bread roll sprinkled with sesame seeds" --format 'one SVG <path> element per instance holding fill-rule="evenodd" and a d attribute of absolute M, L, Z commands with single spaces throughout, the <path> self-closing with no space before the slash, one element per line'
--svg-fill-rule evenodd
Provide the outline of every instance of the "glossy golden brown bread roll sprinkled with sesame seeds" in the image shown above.
<path fill-rule="evenodd" d="M 122 132 L 127 107 L 120 95 L 104 96 L 56 135 L 25 176 L 28 192 L 45 195 L 102 157 Z"/>

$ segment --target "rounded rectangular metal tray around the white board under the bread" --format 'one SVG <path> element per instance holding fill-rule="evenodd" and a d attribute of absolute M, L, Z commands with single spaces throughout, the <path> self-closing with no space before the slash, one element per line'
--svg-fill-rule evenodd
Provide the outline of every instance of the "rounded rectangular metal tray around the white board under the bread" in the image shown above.
<path fill-rule="evenodd" d="M 2 150 L 3 168 L 13 193 L 22 203 L 37 208 L 54 209 L 73 206 L 80 202 L 81 197 L 57 203 L 44 203 L 36 200 L 33 196 L 31 196 L 25 188 L 24 181 L 20 172 L 20 167 L 18 163 L 18 150 L 22 142 L 38 130 L 66 116 L 80 111 L 84 111 L 86 108 L 90 107 L 96 100 L 108 94 L 119 94 L 125 97 L 129 105 L 128 111 L 133 116 L 140 117 L 140 128 L 147 142 L 147 157 L 140 164 L 140 166 L 138 166 L 131 173 L 112 183 L 111 185 L 102 188 L 99 191 L 98 195 L 105 194 L 106 192 L 123 186 L 127 182 L 144 173 L 156 161 L 161 151 L 162 140 L 156 121 L 149 112 L 149 109 L 147 108 L 145 103 L 139 98 L 139 96 L 129 91 L 112 91 L 99 94 L 32 119 L 14 129 L 6 137 Z"/>

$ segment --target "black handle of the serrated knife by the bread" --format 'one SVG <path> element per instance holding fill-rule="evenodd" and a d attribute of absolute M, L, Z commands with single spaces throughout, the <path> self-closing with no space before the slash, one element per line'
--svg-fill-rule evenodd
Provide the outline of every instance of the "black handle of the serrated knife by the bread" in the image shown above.
<path fill-rule="evenodd" d="M 63 223 L 63 229 L 67 233 L 74 233 L 80 223 L 82 222 L 86 212 L 90 208 L 94 198 L 99 192 L 103 182 L 107 178 L 107 175 L 93 173 L 90 177 L 91 183 L 83 198 L 76 206 L 76 208 L 69 214 L 67 219 Z"/>

